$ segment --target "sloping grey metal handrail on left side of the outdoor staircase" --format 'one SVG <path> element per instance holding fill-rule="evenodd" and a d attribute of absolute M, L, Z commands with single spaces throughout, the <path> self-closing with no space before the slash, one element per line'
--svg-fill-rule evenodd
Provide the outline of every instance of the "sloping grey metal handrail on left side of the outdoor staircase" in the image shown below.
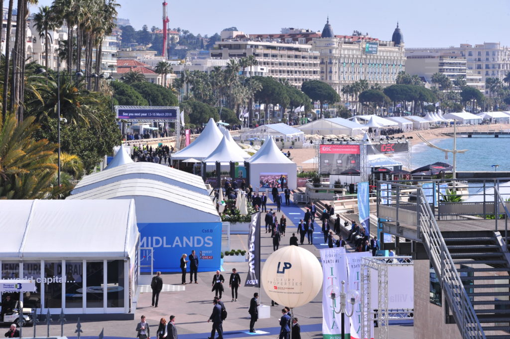
<path fill-rule="evenodd" d="M 383 183 L 379 181 L 379 184 Z M 386 183 L 386 182 L 384 182 Z M 486 339 L 480 322 L 475 314 L 473 305 L 464 288 L 460 274 L 441 234 L 441 230 L 432 213 L 425 192 L 421 187 L 391 183 L 392 186 L 405 189 L 415 189 L 417 192 L 417 235 L 423 239 L 423 245 L 428 253 L 430 262 L 440 277 L 441 288 L 445 291 L 446 299 L 452 309 L 453 318 L 457 323 L 463 339 Z M 380 199 L 380 197 L 379 197 Z M 378 200 L 379 200 L 378 199 Z M 379 203 L 379 202 L 378 202 Z M 397 192 L 398 208 L 398 192 Z M 398 213 L 398 212 L 397 212 Z M 397 214 L 398 216 L 398 214 Z M 398 219 L 398 217 L 397 217 Z M 396 220 L 398 223 L 398 220 Z"/>

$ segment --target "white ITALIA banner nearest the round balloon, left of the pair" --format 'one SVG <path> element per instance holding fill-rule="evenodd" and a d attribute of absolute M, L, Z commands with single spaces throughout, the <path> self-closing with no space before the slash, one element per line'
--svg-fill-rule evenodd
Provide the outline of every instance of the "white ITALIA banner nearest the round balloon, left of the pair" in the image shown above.
<path fill-rule="evenodd" d="M 324 275 L 322 279 L 322 337 L 338 339 L 342 333 L 342 315 L 336 314 L 335 309 L 338 310 L 340 305 L 338 299 L 329 298 L 327 288 L 330 285 L 341 285 L 342 280 L 347 281 L 345 248 L 323 248 L 320 250 L 320 258 Z M 344 319 L 347 320 L 347 317 Z M 348 321 L 344 323 L 344 333 L 349 333 Z"/>

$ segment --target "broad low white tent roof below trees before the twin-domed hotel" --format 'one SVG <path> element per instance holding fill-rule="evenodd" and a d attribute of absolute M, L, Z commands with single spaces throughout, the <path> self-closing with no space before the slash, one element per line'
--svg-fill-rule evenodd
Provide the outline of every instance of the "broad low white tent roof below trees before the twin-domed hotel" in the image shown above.
<path fill-rule="evenodd" d="M 323 136 L 334 134 L 351 137 L 363 135 L 368 130 L 368 127 L 365 125 L 343 118 L 318 119 L 297 128 L 305 134 L 319 134 Z"/>

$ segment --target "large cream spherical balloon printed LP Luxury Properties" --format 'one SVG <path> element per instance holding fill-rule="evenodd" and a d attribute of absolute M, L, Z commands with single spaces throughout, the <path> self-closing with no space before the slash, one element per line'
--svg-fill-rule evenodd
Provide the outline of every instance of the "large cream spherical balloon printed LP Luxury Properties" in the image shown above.
<path fill-rule="evenodd" d="M 315 255 L 304 248 L 282 247 L 264 263 L 262 287 L 271 300 L 282 306 L 302 306 L 319 293 L 322 266 Z"/>

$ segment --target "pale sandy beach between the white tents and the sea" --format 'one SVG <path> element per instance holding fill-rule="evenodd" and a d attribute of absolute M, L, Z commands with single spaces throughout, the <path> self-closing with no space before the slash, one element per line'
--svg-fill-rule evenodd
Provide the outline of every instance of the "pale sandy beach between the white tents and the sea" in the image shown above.
<path fill-rule="evenodd" d="M 490 125 L 468 125 L 468 126 L 457 126 L 457 132 L 470 132 L 470 131 L 479 131 L 479 132 L 488 132 L 488 131 L 501 131 L 510 129 L 510 124 L 490 124 Z M 405 137 L 413 137 L 411 139 L 411 144 L 417 145 L 422 143 L 423 141 L 417 136 L 420 134 L 426 140 L 437 140 L 437 139 L 446 139 L 449 138 L 445 136 L 443 133 L 453 133 L 453 127 L 441 127 L 441 128 L 433 128 L 433 129 L 422 129 L 420 131 L 411 131 L 403 134 L 398 134 L 395 136 L 401 137 L 402 135 Z M 303 171 L 313 171 L 315 170 L 315 165 L 313 163 L 306 164 L 304 163 L 307 160 L 310 160 L 315 157 L 316 149 L 315 148 L 300 148 L 300 149 L 287 149 L 284 151 L 287 152 L 290 150 L 292 161 L 294 161 L 298 168 L 302 168 Z"/>

